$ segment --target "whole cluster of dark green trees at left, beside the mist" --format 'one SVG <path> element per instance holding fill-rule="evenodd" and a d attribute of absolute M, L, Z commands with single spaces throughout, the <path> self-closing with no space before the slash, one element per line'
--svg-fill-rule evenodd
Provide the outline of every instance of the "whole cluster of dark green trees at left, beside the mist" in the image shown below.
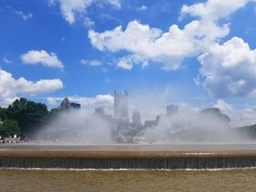
<path fill-rule="evenodd" d="M 42 128 L 57 112 L 58 108 L 48 111 L 46 104 L 40 102 L 28 101 L 25 98 L 16 99 L 7 108 L 0 107 L 0 118 L 4 122 L 0 126 L 0 135 L 29 136 Z"/>

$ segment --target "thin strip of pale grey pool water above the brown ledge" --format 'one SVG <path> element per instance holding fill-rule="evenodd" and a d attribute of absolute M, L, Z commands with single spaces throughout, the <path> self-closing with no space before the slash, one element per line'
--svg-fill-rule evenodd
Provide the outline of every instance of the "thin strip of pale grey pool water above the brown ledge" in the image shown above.
<path fill-rule="evenodd" d="M 106 145 L 86 145 L 86 144 L 2 144 L 0 145 L 0 151 L 65 151 L 65 150 L 127 150 L 127 151 L 140 151 L 140 150 L 169 150 L 169 151 L 181 151 L 181 150 L 256 150 L 256 142 L 242 142 L 242 143 L 168 143 L 168 144 L 106 144 Z"/>

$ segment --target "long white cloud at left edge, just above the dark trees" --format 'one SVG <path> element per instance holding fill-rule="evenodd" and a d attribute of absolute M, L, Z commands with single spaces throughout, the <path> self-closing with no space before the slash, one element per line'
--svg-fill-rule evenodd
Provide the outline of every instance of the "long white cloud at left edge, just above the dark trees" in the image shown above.
<path fill-rule="evenodd" d="M 12 74 L 0 69 L 0 105 L 6 106 L 17 99 L 17 95 L 37 95 L 40 93 L 51 93 L 63 88 L 59 79 L 38 80 L 31 82 L 23 77 L 15 80 Z"/>

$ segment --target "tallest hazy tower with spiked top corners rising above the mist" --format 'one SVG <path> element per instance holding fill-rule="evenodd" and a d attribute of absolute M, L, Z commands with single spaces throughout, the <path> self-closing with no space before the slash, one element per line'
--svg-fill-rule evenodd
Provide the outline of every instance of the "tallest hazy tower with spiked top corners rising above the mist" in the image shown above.
<path fill-rule="evenodd" d="M 124 94 L 114 92 L 114 118 L 115 119 L 129 119 L 128 113 L 128 93 Z"/>

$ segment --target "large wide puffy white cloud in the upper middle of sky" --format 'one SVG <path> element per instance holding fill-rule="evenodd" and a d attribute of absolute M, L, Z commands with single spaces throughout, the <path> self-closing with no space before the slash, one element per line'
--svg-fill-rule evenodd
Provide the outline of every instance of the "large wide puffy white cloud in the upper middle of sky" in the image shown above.
<path fill-rule="evenodd" d="M 197 36 L 199 22 L 197 20 L 189 23 L 183 30 L 178 26 L 170 26 L 169 31 L 163 33 L 159 28 L 150 28 L 148 25 L 140 24 L 137 20 L 128 23 L 123 31 L 121 26 L 112 31 L 98 33 L 89 31 L 91 44 L 98 50 L 118 52 L 127 50 L 132 54 L 135 61 L 146 64 L 148 59 L 163 63 L 165 69 L 178 69 L 185 56 L 195 56 L 199 53 L 200 38 Z M 132 62 L 125 62 L 122 58 L 118 66 L 131 69 Z M 131 61 L 131 59 L 129 58 Z M 137 62 L 134 62 L 137 63 Z"/>

